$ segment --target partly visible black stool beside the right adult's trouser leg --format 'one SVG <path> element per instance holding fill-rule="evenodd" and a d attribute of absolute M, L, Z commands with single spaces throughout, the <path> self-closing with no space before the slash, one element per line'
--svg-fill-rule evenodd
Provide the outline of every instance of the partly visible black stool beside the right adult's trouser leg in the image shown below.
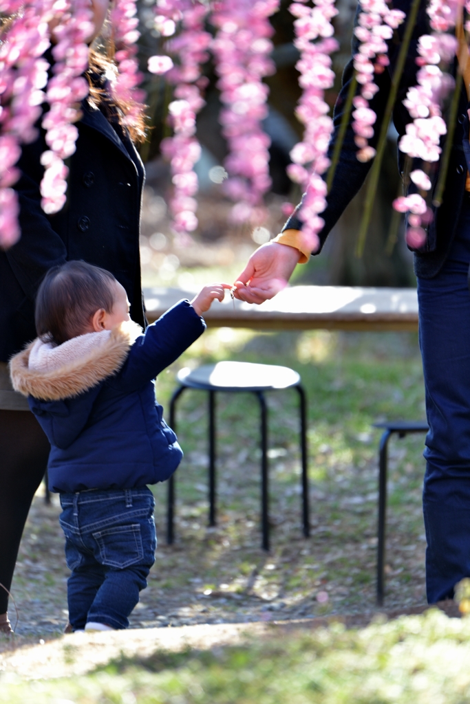
<path fill-rule="evenodd" d="M 409 433 L 428 432 L 426 421 L 390 420 L 373 423 L 375 428 L 384 428 L 378 448 L 378 541 L 377 541 L 377 605 L 383 605 L 385 594 L 385 513 L 387 508 L 388 441 L 393 433 L 404 438 Z"/>

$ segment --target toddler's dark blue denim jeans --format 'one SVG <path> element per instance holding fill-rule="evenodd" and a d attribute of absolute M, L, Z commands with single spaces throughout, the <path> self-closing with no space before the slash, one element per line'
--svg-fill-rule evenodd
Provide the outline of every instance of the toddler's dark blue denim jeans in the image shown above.
<path fill-rule="evenodd" d="M 154 564 L 154 497 L 142 489 L 61 494 L 66 536 L 68 617 L 74 631 L 88 621 L 122 629 Z"/>

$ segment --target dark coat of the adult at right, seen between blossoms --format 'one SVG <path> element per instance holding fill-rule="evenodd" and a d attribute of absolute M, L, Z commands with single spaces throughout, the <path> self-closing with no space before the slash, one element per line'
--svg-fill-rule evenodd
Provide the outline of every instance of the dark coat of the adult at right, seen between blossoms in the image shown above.
<path fill-rule="evenodd" d="M 392 1 L 392 6 L 394 8 L 404 11 L 407 15 L 411 4 L 412 0 Z M 356 15 L 356 23 L 354 24 L 357 24 L 357 17 L 360 11 L 361 8 L 359 6 L 358 13 Z M 398 30 L 394 33 L 394 37 L 390 39 L 390 42 L 388 42 L 388 56 L 390 58 L 390 65 L 383 73 L 380 75 L 375 75 L 374 77 L 374 80 L 379 88 L 370 103 L 371 108 L 377 115 L 377 121 L 374 125 L 375 134 L 373 139 L 370 140 L 371 146 L 374 147 L 377 144 L 378 134 L 381 130 L 383 113 L 390 94 L 392 75 L 397 63 L 398 52 L 400 51 L 400 44 L 402 42 L 406 23 L 407 19 L 404 20 L 404 23 L 402 23 L 402 25 L 400 25 Z M 428 16 L 426 15 L 426 0 L 421 0 L 418 18 L 414 27 L 412 41 L 409 45 L 407 60 L 404 65 L 404 71 L 400 80 L 400 86 L 393 111 L 393 122 L 400 137 L 402 137 L 402 134 L 405 134 L 407 123 L 412 121 L 412 118 L 410 117 L 407 108 L 405 108 L 402 104 L 402 101 L 406 98 L 408 89 L 415 86 L 417 82 L 416 72 L 418 67 L 416 66 L 415 60 L 416 56 L 418 56 L 417 49 L 419 37 L 421 37 L 422 34 L 429 34 L 430 32 L 431 29 L 428 23 Z M 353 56 L 354 54 L 357 54 L 358 48 L 359 42 L 355 37 L 353 37 Z M 338 136 L 352 75 L 353 65 L 351 60 L 347 64 L 343 73 L 342 89 L 335 105 L 333 114 L 335 132 L 330 144 L 330 154 L 333 151 L 333 145 Z M 459 96 L 459 109 L 457 111 L 457 123 L 454 126 L 452 149 L 450 151 L 449 167 L 445 180 L 443 203 L 440 208 L 434 208 L 434 220 L 431 225 L 428 226 L 426 245 L 423 247 L 422 251 L 417 251 L 414 255 L 414 270 L 416 275 L 423 279 L 433 278 L 442 268 L 447 258 L 447 254 L 449 253 L 457 228 L 457 223 L 459 221 L 460 210 L 462 209 L 464 199 L 466 170 L 467 168 L 470 168 L 469 119 L 466 113 L 468 107 L 469 104 L 462 82 L 462 91 Z M 447 115 L 444 115 L 444 117 L 447 122 Z M 325 226 L 319 234 L 321 247 L 323 246 L 328 233 L 338 221 L 348 203 L 352 201 L 366 180 L 366 176 L 369 173 L 369 169 L 373 163 L 372 161 L 369 161 L 368 163 L 361 163 L 357 160 L 357 146 L 354 144 L 354 132 L 352 130 L 351 122 L 352 119 L 347 127 L 346 137 L 340 155 L 340 161 L 335 170 L 335 177 L 333 179 L 332 187 L 328 193 L 326 210 L 324 210 L 323 213 L 320 213 L 320 217 L 325 220 Z M 441 140 L 441 148 L 443 148 L 444 143 L 445 139 Z M 415 163 L 413 168 L 420 168 L 420 165 L 421 162 Z M 398 166 L 400 168 L 400 173 L 403 176 L 404 154 L 400 151 L 398 152 Z M 434 192 L 437 185 L 439 170 L 440 163 L 435 163 L 431 173 L 431 181 L 433 183 L 433 191 L 431 191 L 431 193 Z M 410 187 L 410 190 L 412 188 L 414 188 L 413 185 Z M 291 215 L 289 220 L 287 220 L 283 230 L 302 230 L 302 221 L 297 218 L 298 208 L 299 206 L 297 206 L 296 211 Z M 352 233 L 352 236 L 354 236 L 354 233 Z M 319 251 L 321 251 L 321 247 Z M 318 254 L 319 251 L 314 252 L 314 254 Z"/>

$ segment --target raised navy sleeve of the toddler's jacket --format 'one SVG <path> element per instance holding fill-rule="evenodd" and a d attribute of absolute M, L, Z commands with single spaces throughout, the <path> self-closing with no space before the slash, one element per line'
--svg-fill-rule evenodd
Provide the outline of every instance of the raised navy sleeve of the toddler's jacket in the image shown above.
<path fill-rule="evenodd" d="M 137 338 L 123 370 L 106 383 L 125 392 L 139 389 L 177 360 L 205 329 L 189 301 L 176 303 Z"/>

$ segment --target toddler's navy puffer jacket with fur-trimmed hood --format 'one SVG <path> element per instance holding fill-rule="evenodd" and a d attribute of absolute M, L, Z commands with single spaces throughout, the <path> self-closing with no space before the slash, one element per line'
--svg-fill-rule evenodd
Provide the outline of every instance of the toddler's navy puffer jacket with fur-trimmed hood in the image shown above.
<path fill-rule="evenodd" d="M 55 347 L 37 339 L 12 358 L 13 386 L 28 396 L 52 446 L 51 491 L 134 489 L 173 474 L 183 452 L 153 379 L 204 329 L 180 301 L 144 334 L 129 321 Z"/>

